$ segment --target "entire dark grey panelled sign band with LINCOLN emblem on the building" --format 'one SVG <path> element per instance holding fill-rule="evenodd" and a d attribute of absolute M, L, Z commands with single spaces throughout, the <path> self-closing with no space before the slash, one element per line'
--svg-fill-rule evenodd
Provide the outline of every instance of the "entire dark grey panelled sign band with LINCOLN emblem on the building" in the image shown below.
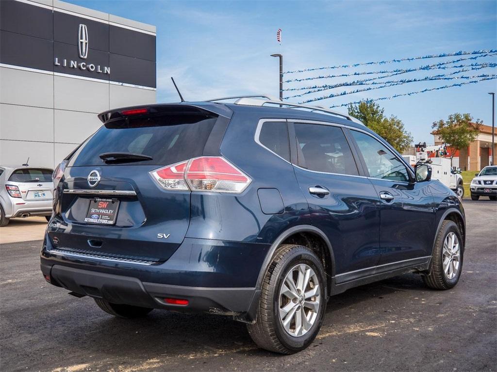
<path fill-rule="evenodd" d="M 86 59 L 78 53 L 80 24 L 88 31 Z M 59 65 L 55 65 L 56 58 Z M 0 0 L 0 63 L 156 87 L 156 37 L 20 1 Z"/>

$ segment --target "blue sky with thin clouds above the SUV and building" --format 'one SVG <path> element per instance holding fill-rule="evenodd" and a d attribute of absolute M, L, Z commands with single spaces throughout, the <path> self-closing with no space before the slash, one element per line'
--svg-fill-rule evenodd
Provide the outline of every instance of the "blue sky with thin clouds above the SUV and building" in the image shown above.
<path fill-rule="evenodd" d="M 497 49 L 495 0 L 69 2 L 157 26 L 158 102 L 178 100 L 170 76 L 174 76 L 186 100 L 256 93 L 277 96 L 278 63 L 277 59 L 269 55 L 279 52 L 276 41 L 278 27 L 283 30 L 284 71 L 459 50 Z M 285 75 L 285 79 L 378 68 L 411 68 L 455 58 L 324 70 L 299 76 Z M 497 56 L 465 63 L 471 62 L 497 63 Z M 453 71 L 447 70 L 445 73 Z M 432 70 L 395 78 L 421 78 L 443 73 Z M 497 69 L 464 74 L 497 74 Z M 311 80 L 307 83 L 286 84 L 285 87 L 342 81 L 345 79 Z M 458 81 L 461 80 L 413 82 L 335 97 L 316 104 L 331 106 Z M 356 88 L 360 87 L 348 90 Z M 337 88 L 326 92 L 343 90 Z M 415 142 L 432 143 L 432 136 L 429 135 L 431 123 L 454 112 L 468 112 L 475 119 L 482 119 L 485 124 L 491 125 L 491 96 L 487 94 L 490 91 L 497 92 L 497 80 L 379 101 L 379 104 L 385 108 L 387 115 L 396 115 L 405 123 Z M 340 110 L 346 111 L 346 108 Z"/>

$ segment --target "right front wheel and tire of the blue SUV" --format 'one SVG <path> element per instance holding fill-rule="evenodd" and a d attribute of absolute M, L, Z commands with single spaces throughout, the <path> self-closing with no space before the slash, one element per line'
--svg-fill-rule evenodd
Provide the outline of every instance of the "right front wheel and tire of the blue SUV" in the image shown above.
<path fill-rule="evenodd" d="M 438 230 L 428 273 L 424 283 L 436 290 L 453 288 L 461 276 L 464 257 L 464 243 L 459 226 L 444 220 Z"/>

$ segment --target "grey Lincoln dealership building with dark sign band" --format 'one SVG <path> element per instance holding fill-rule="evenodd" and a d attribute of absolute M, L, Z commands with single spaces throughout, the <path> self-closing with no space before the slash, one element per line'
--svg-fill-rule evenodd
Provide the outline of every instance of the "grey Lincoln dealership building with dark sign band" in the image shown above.
<path fill-rule="evenodd" d="M 52 167 L 101 126 L 97 113 L 155 102 L 155 26 L 0 0 L 0 165 Z"/>

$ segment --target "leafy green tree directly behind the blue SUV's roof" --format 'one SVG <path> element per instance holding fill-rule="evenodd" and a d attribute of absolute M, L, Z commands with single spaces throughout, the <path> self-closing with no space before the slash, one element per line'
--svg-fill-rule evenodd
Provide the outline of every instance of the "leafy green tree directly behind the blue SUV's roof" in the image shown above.
<path fill-rule="evenodd" d="M 402 120 L 394 115 L 386 117 L 384 109 L 371 100 L 348 106 L 348 114 L 356 117 L 366 127 L 378 133 L 385 141 L 402 153 L 413 143 L 413 136 L 404 127 Z"/>

